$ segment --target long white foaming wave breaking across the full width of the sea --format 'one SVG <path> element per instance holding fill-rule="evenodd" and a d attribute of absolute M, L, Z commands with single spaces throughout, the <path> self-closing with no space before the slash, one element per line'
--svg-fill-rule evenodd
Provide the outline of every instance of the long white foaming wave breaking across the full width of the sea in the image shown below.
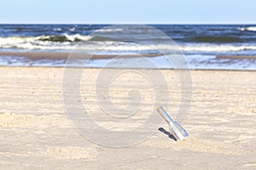
<path fill-rule="evenodd" d="M 61 36 L 39 36 L 39 37 L 0 37 L 0 48 L 15 49 L 42 49 L 42 50 L 87 50 L 95 52 L 101 50 L 104 54 L 108 53 L 159 53 L 159 51 L 181 50 L 185 54 L 240 54 L 255 53 L 256 45 L 253 43 L 191 43 L 178 42 L 167 44 L 164 41 L 150 41 L 144 44 L 139 42 L 119 42 L 113 41 L 109 37 L 90 37 L 84 35 Z M 90 40 L 90 41 L 86 41 Z M 98 40 L 98 41 L 96 41 Z M 79 43 L 79 41 L 85 41 Z M 254 52 L 253 52 L 254 51 Z"/>

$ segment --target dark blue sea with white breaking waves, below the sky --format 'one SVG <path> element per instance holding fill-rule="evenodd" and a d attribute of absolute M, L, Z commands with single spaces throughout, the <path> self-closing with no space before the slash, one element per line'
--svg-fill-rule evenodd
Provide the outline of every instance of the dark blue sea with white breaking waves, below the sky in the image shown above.
<path fill-rule="evenodd" d="M 33 59 L 22 53 L 139 55 L 160 68 L 165 54 L 182 55 L 191 70 L 256 70 L 256 25 L 0 25 L 0 65 L 65 66 L 67 59 Z M 178 52 L 177 52 L 178 51 Z M 22 52 L 20 56 L 1 52 Z M 175 57 L 175 55 L 172 55 Z M 119 62 L 129 63 L 129 59 Z M 104 67 L 109 59 L 92 59 L 89 67 Z M 121 65 L 120 65 L 121 66 Z M 172 66 L 170 66 L 172 69 Z"/>

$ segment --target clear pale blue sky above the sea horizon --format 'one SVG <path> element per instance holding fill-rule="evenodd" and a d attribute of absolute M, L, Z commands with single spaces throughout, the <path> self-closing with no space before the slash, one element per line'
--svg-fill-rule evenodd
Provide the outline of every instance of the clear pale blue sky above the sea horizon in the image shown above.
<path fill-rule="evenodd" d="M 255 0 L 1 0 L 4 24 L 256 24 Z"/>

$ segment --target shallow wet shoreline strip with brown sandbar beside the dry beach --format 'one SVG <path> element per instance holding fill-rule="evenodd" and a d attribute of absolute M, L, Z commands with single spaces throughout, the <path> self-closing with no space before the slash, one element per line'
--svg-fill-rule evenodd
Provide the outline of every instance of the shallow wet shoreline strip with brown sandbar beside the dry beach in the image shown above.
<path fill-rule="evenodd" d="M 171 56 L 176 60 L 176 55 Z M 144 64 L 149 60 L 153 65 Z M 171 59 L 171 58 L 170 58 Z M 256 56 L 183 55 L 181 65 L 160 54 L 86 54 L 82 52 L 17 52 L 0 51 L 1 66 L 84 67 L 117 69 L 163 69 L 190 71 L 256 71 Z M 179 59 L 179 58 L 177 58 Z M 169 62 L 168 62 L 169 60 Z M 68 63 L 68 64 L 67 64 Z M 147 62 L 146 62 L 147 63 Z M 109 65 L 108 65 L 109 64 Z M 178 69 L 175 69 L 175 66 Z"/>

